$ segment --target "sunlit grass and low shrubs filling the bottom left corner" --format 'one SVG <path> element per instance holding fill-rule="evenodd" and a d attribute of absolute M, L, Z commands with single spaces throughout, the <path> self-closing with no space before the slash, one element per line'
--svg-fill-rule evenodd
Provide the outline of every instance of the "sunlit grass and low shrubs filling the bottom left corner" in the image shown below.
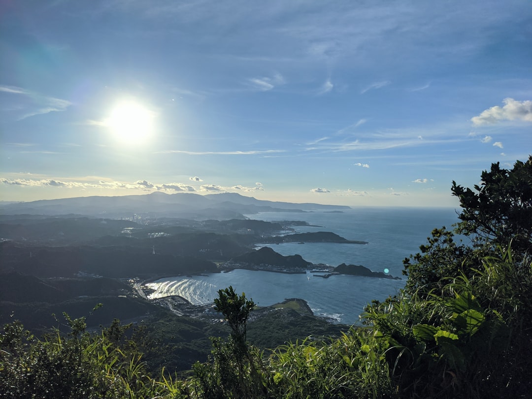
<path fill-rule="evenodd" d="M 0 397 L 139 398 L 185 396 L 182 381 L 161 383 L 148 376 L 142 353 L 118 345 L 109 334 L 85 331 L 85 318 L 65 314 L 70 333 L 37 339 L 19 322 L 0 334 Z M 112 328 L 117 328 L 114 322 Z M 122 331 L 127 327 L 123 327 Z M 171 395 L 169 395 L 171 394 Z"/>

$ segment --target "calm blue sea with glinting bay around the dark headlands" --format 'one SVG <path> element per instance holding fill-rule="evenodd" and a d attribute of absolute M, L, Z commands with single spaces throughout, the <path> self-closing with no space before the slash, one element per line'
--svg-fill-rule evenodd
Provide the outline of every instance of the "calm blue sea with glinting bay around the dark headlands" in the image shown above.
<path fill-rule="evenodd" d="M 403 277 L 402 260 L 418 252 L 430 231 L 448 228 L 458 221 L 454 209 L 413 209 L 361 207 L 344 213 L 260 213 L 250 219 L 279 221 L 301 220 L 320 227 L 298 226 L 297 232 L 332 231 L 349 240 L 367 245 L 335 243 L 264 244 L 281 255 L 300 254 L 312 263 L 338 265 L 361 264 L 373 271 L 389 270 L 392 276 Z M 354 324 L 371 300 L 384 300 L 404 286 L 404 280 L 357 276 L 332 276 L 328 279 L 306 275 L 234 270 L 210 276 L 174 277 L 157 280 L 149 287 L 152 297 L 180 295 L 194 304 L 213 302 L 218 290 L 231 285 L 236 292 L 245 292 L 262 306 L 282 302 L 285 298 L 303 298 L 313 312 Z"/>

